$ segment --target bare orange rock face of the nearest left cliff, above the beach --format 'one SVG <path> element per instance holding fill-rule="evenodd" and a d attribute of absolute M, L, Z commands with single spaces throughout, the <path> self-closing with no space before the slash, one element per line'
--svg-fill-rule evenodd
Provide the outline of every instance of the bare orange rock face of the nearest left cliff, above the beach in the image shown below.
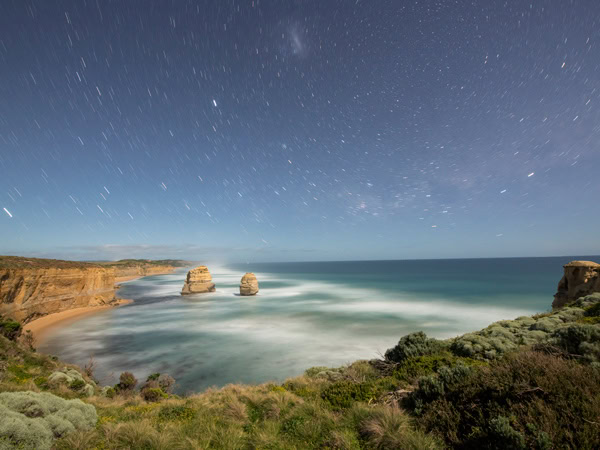
<path fill-rule="evenodd" d="M 0 268 L 0 315 L 23 323 L 47 314 L 115 301 L 113 269 Z"/>

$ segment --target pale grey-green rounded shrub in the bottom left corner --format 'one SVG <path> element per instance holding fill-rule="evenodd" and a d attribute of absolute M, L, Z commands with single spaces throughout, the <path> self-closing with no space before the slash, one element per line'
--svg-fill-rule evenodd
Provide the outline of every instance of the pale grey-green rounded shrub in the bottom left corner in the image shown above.
<path fill-rule="evenodd" d="M 23 449 L 49 449 L 56 438 L 94 427 L 92 405 L 43 392 L 0 394 L 0 442 Z M 4 448 L 0 445 L 0 448 Z"/>

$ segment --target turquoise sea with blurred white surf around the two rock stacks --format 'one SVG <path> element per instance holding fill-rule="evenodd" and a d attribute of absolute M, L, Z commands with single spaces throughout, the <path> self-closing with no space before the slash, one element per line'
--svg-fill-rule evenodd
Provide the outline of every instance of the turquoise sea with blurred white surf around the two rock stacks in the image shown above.
<path fill-rule="evenodd" d="M 187 269 L 130 281 L 119 295 L 135 303 L 65 325 L 39 350 L 80 365 L 93 356 L 103 384 L 125 370 L 167 372 L 179 393 L 282 381 L 376 357 L 413 331 L 446 338 L 546 311 L 573 259 L 207 262 L 217 292 L 179 295 Z M 240 297 L 249 271 L 260 293 Z"/>

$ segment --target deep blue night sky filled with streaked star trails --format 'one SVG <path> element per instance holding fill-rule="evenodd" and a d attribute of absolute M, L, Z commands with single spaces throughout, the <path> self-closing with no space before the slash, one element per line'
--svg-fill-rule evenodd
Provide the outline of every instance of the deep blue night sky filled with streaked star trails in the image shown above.
<path fill-rule="evenodd" d="M 0 253 L 600 253 L 600 4 L 0 1 Z"/>

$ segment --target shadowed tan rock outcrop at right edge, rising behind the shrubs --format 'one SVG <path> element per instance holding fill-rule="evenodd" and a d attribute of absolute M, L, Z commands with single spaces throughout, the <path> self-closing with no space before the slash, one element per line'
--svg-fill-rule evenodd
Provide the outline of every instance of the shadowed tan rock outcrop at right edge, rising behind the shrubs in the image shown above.
<path fill-rule="evenodd" d="M 592 261 L 571 261 L 563 267 L 565 274 L 554 294 L 553 308 L 560 308 L 579 297 L 600 292 L 600 264 Z"/>

